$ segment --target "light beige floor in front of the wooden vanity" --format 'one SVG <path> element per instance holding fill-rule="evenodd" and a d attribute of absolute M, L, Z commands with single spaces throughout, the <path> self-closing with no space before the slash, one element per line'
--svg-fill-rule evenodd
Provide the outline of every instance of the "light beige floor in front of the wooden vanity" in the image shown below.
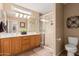
<path fill-rule="evenodd" d="M 21 53 L 18 56 L 53 56 L 53 50 L 39 47 L 31 51 Z"/>

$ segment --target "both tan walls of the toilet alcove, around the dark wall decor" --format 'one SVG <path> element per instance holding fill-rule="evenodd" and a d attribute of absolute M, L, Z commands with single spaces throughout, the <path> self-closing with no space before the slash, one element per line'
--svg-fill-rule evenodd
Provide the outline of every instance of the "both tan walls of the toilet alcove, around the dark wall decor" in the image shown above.
<path fill-rule="evenodd" d="M 79 37 L 79 28 L 68 29 L 66 26 L 70 16 L 79 16 L 79 4 L 56 4 L 56 55 L 63 51 L 68 36 Z"/>

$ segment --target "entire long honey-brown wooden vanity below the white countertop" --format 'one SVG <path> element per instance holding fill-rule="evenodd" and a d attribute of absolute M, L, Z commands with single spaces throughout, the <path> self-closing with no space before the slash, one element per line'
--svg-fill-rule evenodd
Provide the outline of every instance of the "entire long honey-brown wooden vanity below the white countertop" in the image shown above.
<path fill-rule="evenodd" d="M 24 51 L 39 47 L 40 42 L 40 34 L 0 38 L 0 55 L 17 55 Z"/>

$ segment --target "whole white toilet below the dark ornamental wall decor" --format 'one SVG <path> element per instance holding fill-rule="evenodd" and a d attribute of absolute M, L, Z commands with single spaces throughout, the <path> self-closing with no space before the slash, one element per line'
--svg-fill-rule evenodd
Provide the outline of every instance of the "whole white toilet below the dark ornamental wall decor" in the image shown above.
<path fill-rule="evenodd" d="M 67 50 L 67 56 L 74 56 L 77 52 L 77 37 L 68 37 L 68 44 L 65 45 L 65 49 Z"/>

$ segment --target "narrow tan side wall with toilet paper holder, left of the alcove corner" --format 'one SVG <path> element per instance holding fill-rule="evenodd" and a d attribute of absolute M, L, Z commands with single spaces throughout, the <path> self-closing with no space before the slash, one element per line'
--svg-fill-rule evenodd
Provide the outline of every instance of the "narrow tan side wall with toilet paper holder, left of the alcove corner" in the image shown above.
<path fill-rule="evenodd" d="M 56 55 L 64 49 L 64 6 L 56 4 Z"/>

